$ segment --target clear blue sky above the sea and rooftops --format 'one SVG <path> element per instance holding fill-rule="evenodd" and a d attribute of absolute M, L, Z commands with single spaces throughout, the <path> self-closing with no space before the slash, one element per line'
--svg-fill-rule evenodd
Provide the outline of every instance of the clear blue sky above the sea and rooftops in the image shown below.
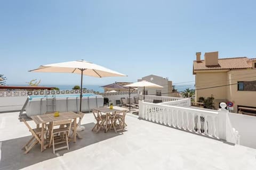
<path fill-rule="evenodd" d="M 80 75 L 31 73 L 42 64 L 86 60 L 128 77 L 193 81 L 195 53 L 256 56 L 254 1 L 0 1 L 0 74 L 7 84 L 79 84 Z"/>

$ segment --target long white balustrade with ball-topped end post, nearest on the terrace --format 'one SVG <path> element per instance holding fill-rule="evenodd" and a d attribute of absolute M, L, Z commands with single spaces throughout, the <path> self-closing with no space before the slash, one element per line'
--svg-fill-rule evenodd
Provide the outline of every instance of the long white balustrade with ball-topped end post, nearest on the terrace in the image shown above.
<path fill-rule="evenodd" d="M 228 111 L 225 109 L 226 106 L 221 106 L 224 109 L 219 111 L 196 109 L 184 107 L 188 106 L 188 102 L 190 103 L 189 99 L 182 98 L 181 100 L 180 103 L 175 100 L 165 104 L 154 104 L 140 100 L 139 117 L 147 121 L 228 142 L 239 142 L 238 132 L 232 128 L 227 119 Z"/>

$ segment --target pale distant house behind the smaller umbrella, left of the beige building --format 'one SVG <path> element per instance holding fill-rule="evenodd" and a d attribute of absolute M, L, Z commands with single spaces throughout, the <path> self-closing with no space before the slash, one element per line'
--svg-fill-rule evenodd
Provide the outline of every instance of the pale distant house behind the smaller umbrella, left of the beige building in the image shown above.
<path fill-rule="evenodd" d="M 145 95 L 156 95 L 156 96 L 173 96 L 172 93 L 172 81 L 169 81 L 168 78 L 163 78 L 157 75 L 147 75 L 142 79 L 138 79 L 138 81 L 146 80 L 148 82 L 152 82 L 163 86 L 163 88 L 153 89 L 153 88 L 145 88 Z M 142 88 L 138 88 L 140 92 L 143 92 Z M 177 96 L 177 94 L 175 94 Z"/>

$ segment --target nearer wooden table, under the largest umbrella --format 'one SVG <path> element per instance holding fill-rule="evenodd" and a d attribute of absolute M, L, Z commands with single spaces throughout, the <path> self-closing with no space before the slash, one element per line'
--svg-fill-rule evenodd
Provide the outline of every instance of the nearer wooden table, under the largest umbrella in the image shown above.
<path fill-rule="evenodd" d="M 45 123 L 53 122 L 53 121 L 63 121 L 63 120 L 69 120 L 74 119 L 74 135 L 73 135 L 73 142 L 76 142 L 76 118 L 78 118 L 79 115 L 74 112 L 60 112 L 60 116 L 54 117 L 54 113 L 51 114 L 45 114 L 45 115 L 36 115 L 31 116 L 32 120 L 37 124 L 42 124 L 42 145 L 41 145 L 41 152 L 44 151 L 45 147 L 47 145 L 44 145 L 44 126 Z"/>

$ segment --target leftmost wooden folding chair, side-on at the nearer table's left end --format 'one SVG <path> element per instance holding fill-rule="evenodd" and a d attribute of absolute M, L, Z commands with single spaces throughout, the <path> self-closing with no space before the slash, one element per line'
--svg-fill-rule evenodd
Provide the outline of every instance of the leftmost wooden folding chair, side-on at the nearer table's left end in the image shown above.
<path fill-rule="evenodd" d="M 25 149 L 24 154 L 27 154 L 36 145 L 36 143 L 40 143 L 42 145 L 42 128 L 32 129 L 24 118 L 22 118 L 22 121 L 32 134 L 32 138 L 22 147 L 22 149 Z M 46 132 L 46 129 L 44 129 L 44 132 Z"/>

